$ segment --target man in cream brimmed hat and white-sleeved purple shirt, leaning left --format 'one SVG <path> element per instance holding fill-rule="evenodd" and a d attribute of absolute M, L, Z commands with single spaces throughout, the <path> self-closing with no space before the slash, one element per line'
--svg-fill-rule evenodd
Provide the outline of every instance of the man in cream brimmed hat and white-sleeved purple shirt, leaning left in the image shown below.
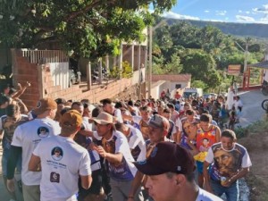
<path fill-rule="evenodd" d="M 128 140 L 120 131 L 115 130 L 111 114 L 99 113 L 93 120 L 96 124 L 96 132 L 93 132 L 93 135 L 102 140 L 102 146 L 95 149 L 108 163 L 113 200 L 126 200 L 137 172 Z"/>

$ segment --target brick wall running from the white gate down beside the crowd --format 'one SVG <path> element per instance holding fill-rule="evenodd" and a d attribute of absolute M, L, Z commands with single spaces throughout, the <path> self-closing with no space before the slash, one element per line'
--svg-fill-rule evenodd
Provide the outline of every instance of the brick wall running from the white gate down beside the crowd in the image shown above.
<path fill-rule="evenodd" d="M 120 93 L 121 96 L 136 96 L 135 90 L 137 86 L 131 87 L 131 79 L 114 80 L 109 84 L 103 84 L 100 88 L 86 92 L 83 92 L 79 85 L 72 85 L 71 88 L 62 89 L 61 86 L 54 86 L 49 63 L 42 65 L 29 63 L 26 57 L 22 57 L 19 50 L 13 49 L 12 54 L 14 86 L 18 82 L 22 86 L 27 81 L 31 83 L 31 87 L 27 88 L 21 96 L 21 100 L 28 106 L 29 110 L 34 108 L 42 97 L 51 97 L 53 99 L 63 97 L 66 100 L 77 101 L 88 98 L 91 103 L 98 103 L 107 97 L 115 99 Z"/>

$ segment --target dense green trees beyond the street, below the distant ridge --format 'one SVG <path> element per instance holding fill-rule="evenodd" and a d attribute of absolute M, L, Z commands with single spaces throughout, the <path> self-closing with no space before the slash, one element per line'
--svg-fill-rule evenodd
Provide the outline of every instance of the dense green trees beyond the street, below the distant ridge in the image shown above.
<path fill-rule="evenodd" d="M 230 64 L 244 65 L 245 51 L 241 46 L 246 48 L 246 42 L 250 52 L 247 63 L 257 63 L 264 55 L 263 46 L 255 39 L 225 35 L 213 26 L 197 28 L 188 21 L 168 24 L 157 18 L 155 27 L 153 72 L 190 73 L 192 86 L 202 86 L 207 91 L 222 90 L 222 83 L 230 85 L 224 71 Z"/>

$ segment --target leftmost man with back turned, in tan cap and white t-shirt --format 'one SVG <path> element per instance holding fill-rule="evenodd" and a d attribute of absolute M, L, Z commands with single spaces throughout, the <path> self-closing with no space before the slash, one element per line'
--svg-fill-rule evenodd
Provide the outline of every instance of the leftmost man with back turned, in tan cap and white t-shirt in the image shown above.
<path fill-rule="evenodd" d="M 33 110 L 38 117 L 17 127 L 14 131 L 11 156 L 7 162 L 7 188 L 14 190 L 14 169 L 22 153 L 22 191 L 24 200 L 40 200 L 41 172 L 29 172 L 29 158 L 38 143 L 49 136 L 58 135 L 61 131 L 59 123 L 54 121 L 57 104 L 51 98 L 42 98 Z"/>

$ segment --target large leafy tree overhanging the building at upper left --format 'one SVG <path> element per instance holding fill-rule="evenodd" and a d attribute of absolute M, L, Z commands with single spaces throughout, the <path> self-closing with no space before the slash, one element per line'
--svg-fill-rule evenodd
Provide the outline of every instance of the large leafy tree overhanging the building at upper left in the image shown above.
<path fill-rule="evenodd" d="M 84 57 L 116 54 L 122 40 L 142 41 L 155 13 L 176 0 L 1 0 L 0 43 L 63 48 Z"/>

